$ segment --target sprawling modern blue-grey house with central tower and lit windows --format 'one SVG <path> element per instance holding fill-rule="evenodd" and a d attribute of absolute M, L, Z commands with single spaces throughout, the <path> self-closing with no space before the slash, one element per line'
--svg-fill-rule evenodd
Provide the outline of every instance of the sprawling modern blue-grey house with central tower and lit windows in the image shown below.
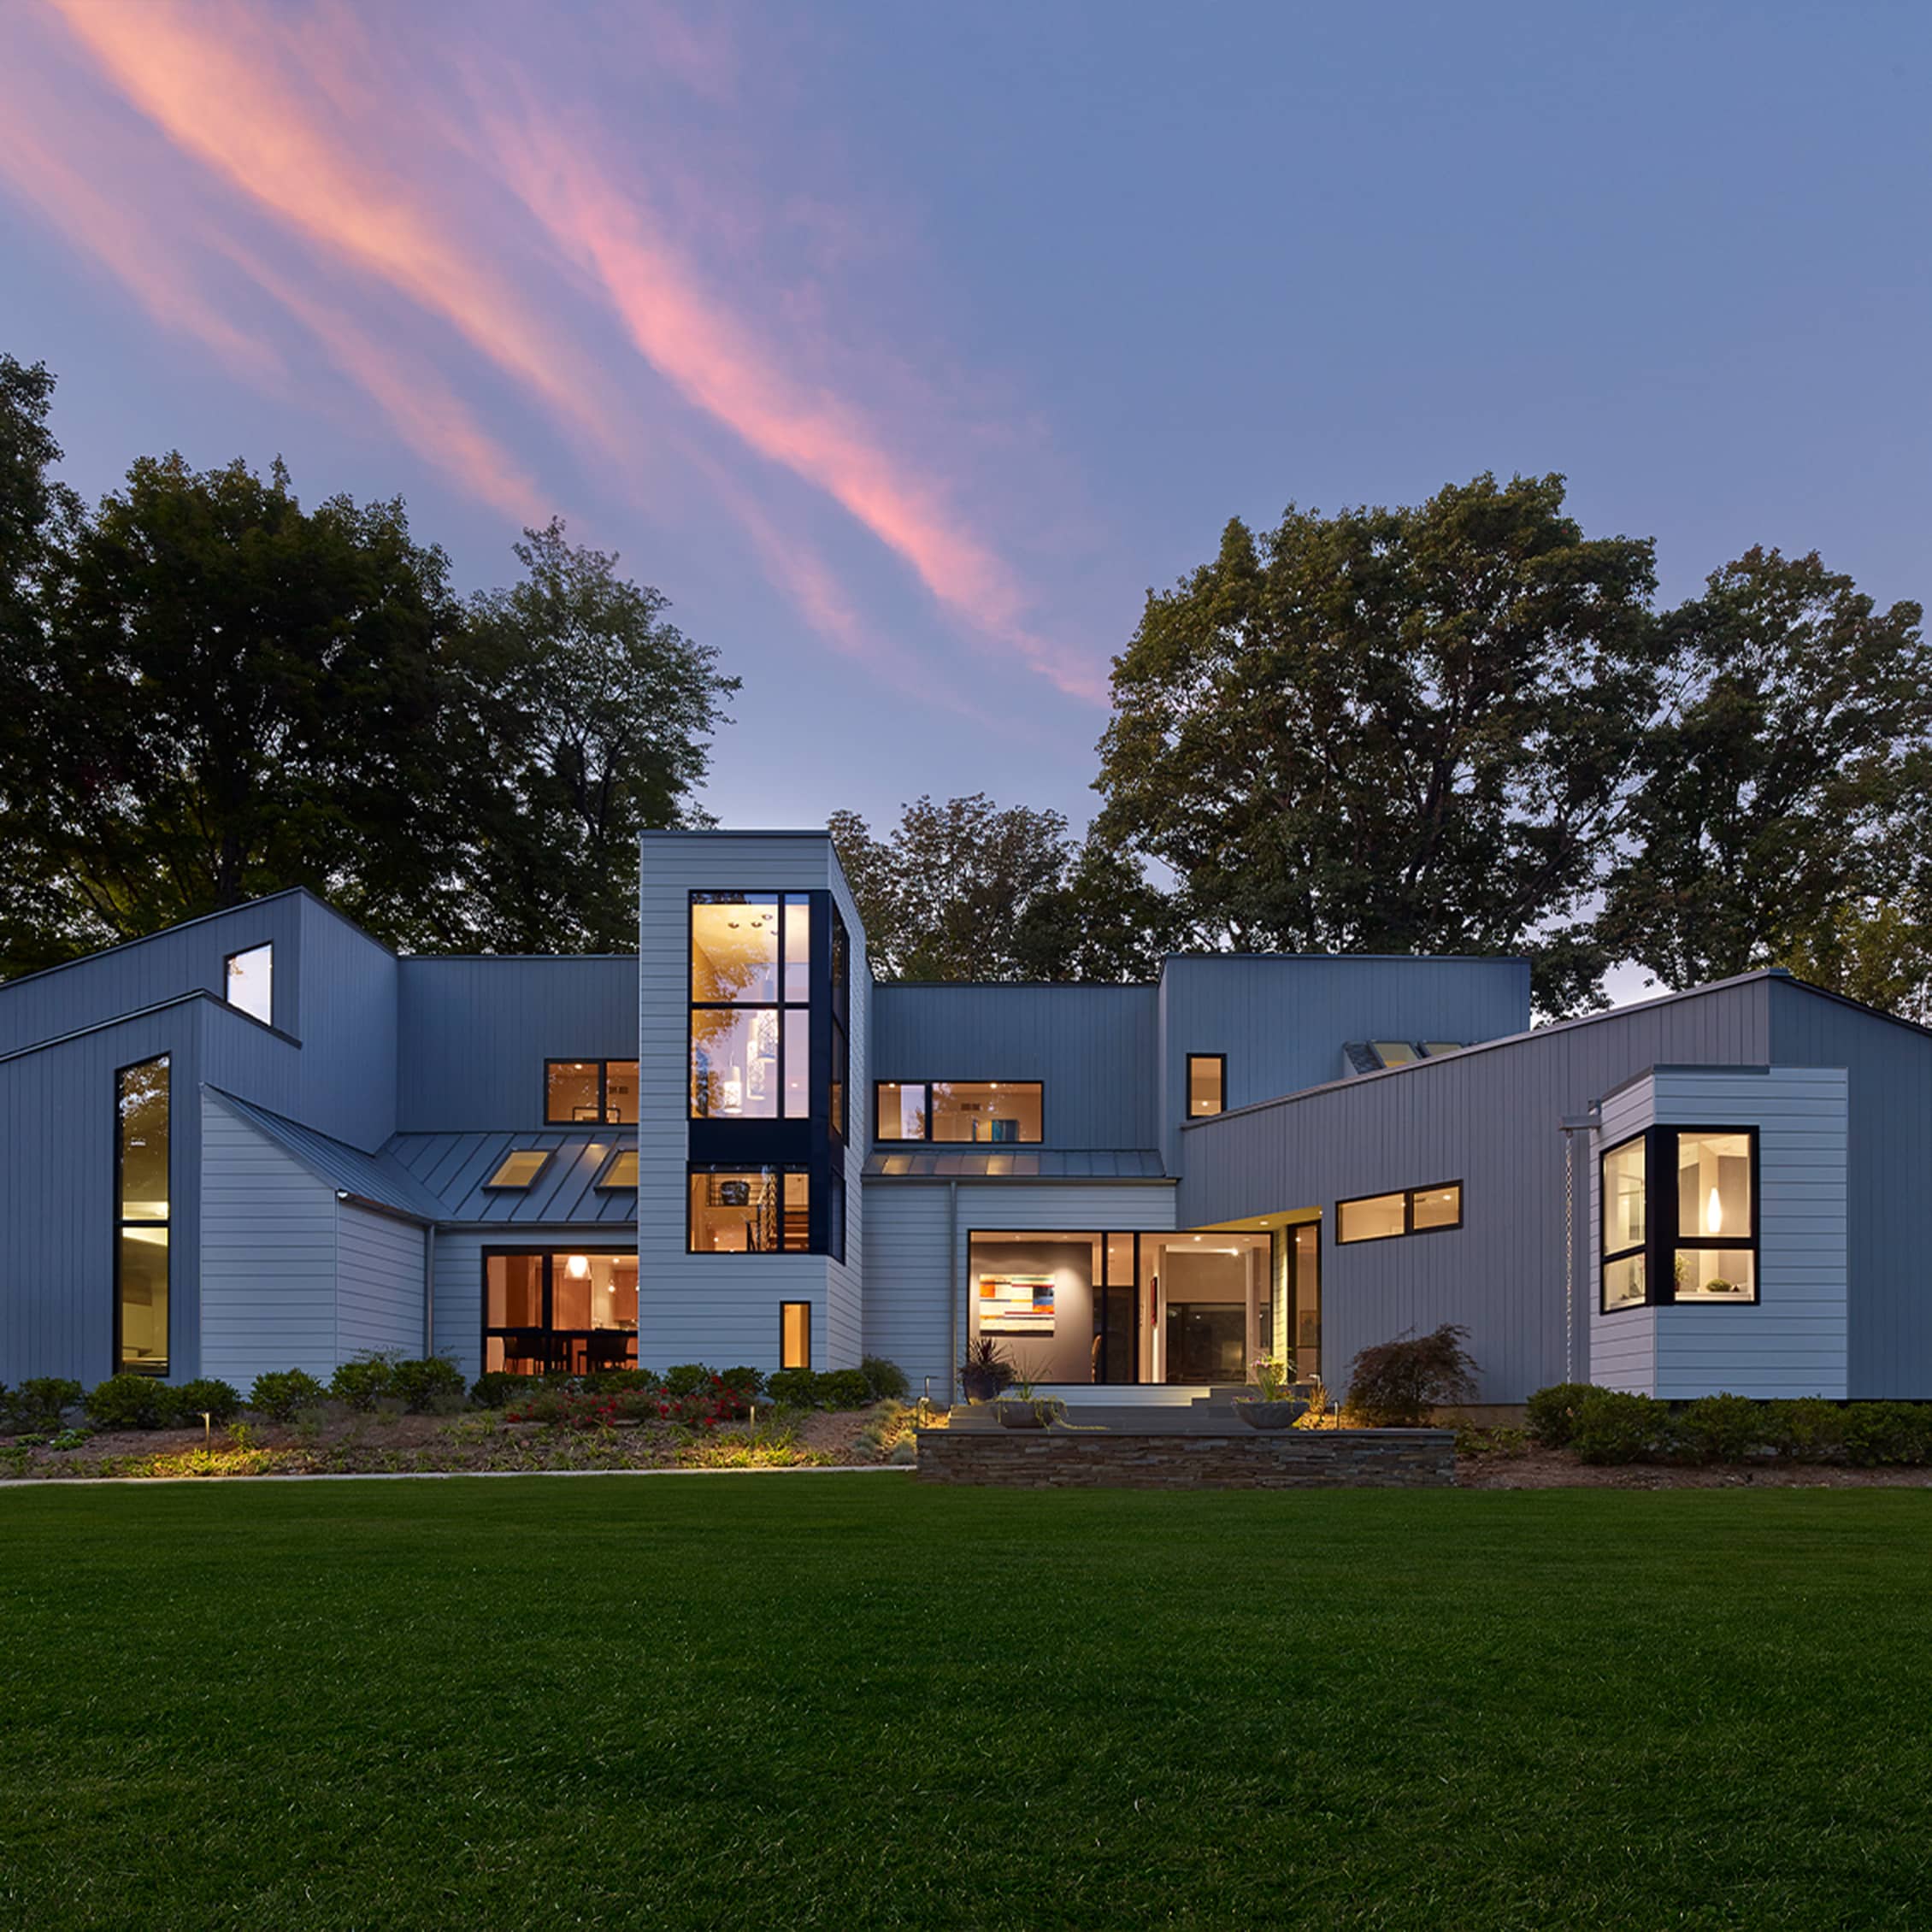
<path fill-rule="evenodd" d="M 0 985 L 0 1379 L 442 1352 L 1238 1381 L 1459 1321 L 1486 1403 L 1932 1399 L 1932 1034 L 1515 958 L 873 981 L 823 833 L 641 842 L 638 954 L 282 893 Z"/>

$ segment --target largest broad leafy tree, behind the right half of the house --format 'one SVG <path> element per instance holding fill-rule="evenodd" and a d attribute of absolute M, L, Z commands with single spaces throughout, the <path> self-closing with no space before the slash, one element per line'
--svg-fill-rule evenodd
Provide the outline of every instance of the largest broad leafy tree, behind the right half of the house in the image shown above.
<path fill-rule="evenodd" d="M 1584 537 L 1555 475 L 1231 522 L 1115 659 L 1095 833 L 1238 949 L 1530 951 L 1546 1009 L 1588 1003 L 1652 587 L 1650 543 Z"/>

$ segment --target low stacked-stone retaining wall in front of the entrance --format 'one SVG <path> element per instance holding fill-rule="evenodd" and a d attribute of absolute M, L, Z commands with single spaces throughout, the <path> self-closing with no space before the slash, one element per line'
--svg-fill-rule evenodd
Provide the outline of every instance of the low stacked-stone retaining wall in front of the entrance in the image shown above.
<path fill-rule="evenodd" d="M 1451 1430 L 922 1430 L 920 1482 L 1016 1490 L 1439 1490 Z"/>

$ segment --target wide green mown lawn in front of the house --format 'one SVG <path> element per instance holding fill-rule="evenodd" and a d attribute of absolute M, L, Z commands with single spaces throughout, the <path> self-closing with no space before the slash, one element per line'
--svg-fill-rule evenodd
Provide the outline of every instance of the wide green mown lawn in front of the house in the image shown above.
<path fill-rule="evenodd" d="M 0 1924 L 1911 1926 L 1932 1495 L 0 1493 Z"/>

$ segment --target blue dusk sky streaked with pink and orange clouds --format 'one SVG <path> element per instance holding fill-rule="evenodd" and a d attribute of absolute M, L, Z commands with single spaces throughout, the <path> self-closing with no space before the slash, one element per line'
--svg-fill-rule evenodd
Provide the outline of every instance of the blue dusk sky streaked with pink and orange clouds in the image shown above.
<path fill-rule="evenodd" d="M 1231 514 L 1561 469 L 1689 595 L 1924 597 L 1932 8 L 0 0 L 0 346 L 137 454 L 553 512 L 744 694 L 726 825 L 1094 810 Z"/>

